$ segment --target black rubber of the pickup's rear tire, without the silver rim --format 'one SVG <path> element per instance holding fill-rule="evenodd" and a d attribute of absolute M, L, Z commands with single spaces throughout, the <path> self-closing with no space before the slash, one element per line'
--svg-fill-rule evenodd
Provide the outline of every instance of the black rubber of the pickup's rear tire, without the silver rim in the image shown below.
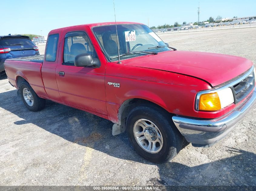
<path fill-rule="evenodd" d="M 24 88 L 27 88 L 30 91 L 30 93 L 32 94 L 33 101 L 34 101 L 34 104 L 32 106 L 29 106 L 23 97 L 23 89 Z M 30 111 L 40 111 L 45 107 L 45 99 L 38 97 L 38 95 L 35 93 L 35 91 L 32 89 L 32 87 L 28 84 L 28 82 L 23 81 L 20 84 L 19 91 L 20 91 L 20 97 L 21 97 L 23 103 Z"/>

